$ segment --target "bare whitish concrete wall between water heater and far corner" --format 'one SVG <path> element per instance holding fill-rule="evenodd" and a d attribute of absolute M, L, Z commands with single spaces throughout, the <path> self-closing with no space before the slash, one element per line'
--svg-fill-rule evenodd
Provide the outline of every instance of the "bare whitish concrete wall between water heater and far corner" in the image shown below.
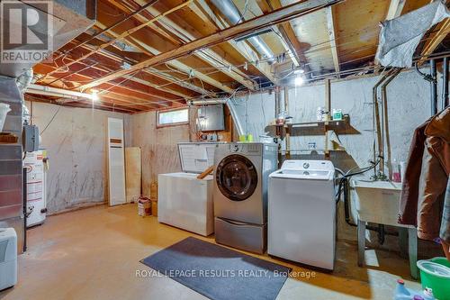
<path fill-rule="evenodd" d="M 27 103 L 31 110 L 31 104 Z M 51 119 L 54 117 L 53 121 Z M 128 144 L 130 115 L 89 108 L 32 104 L 32 121 L 48 150 L 47 208 L 49 214 L 106 201 L 107 118 L 124 119 Z"/>

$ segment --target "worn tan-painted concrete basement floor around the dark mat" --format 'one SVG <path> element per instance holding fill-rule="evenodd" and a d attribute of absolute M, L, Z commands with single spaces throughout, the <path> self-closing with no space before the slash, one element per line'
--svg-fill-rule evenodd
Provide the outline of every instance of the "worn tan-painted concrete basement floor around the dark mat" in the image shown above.
<path fill-rule="evenodd" d="M 19 283 L 0 299 L 206 299 L 168 277 L 137 277 L 148 255 L 188 236 L 213 242 L 155 217 L 139 217 L 136 205 L 97 206 L 51 216 L 29 231 L 28 251 L 19 257 Z M 336 270 L 316 277 L 290 277 L 278 299 L 392 299 L 397 278 L 411 282 L 408 261 L 382 250 L 365 251 L 366 268 L 356 266 L 356 245 L 338 242 Z M 297 265 L 271 259 L 293 268 Z M 298 273 L 300 274 L 300 273 Z"/>

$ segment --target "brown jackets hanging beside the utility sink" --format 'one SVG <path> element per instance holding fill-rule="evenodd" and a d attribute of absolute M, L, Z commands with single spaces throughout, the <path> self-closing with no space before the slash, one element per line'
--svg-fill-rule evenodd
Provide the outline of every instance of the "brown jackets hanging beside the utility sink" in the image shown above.
<path fill-rule="evenodd" d="M 434 240 L 450 174 L 450 108 L 416 130 L 405 173 L 399 223 L 416 225 L 419 238 Z"/>

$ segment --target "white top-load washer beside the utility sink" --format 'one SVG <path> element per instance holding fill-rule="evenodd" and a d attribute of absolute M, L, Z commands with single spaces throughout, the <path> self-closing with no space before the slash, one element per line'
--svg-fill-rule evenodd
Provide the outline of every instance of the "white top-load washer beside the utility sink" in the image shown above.
<path fill-rule="evenodd" d="M 269 176 L 268 253 L 334 268 L 335 168 L 328 160 L 285 160 Z"/>

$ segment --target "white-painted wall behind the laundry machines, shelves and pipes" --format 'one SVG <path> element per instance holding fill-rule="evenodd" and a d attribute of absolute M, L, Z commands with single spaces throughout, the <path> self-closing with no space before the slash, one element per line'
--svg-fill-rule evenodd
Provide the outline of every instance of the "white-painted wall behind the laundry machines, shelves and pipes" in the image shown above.
<path fill-rule="evenodd" d="M 356 134 L 342 134 L 338 138 L 350 156 L 347 159 L 354 160 L 360 167 L 374 158 L 376 134 L 372 132 L 372 88 L 378 80 L 379 77 L 364 77 L 331 83 L 331 108 L 341 108 L 343 114 L 349 114 L 350 124 L 357 131 Z M 392 159 L 406 160 L 415 128 L 430 116 L 430 87 L 415 71 L 407 71 L 392 81 L 387 92 Z M 236 101 L 244 127 L 258 141 L 259 135 L 265 133 L 266 125 L 275 118 L 274 93 L 250 95 L 247 101 L 246 97 Z M 315 122 L 318 106 L 325 105 L 325 86 L 320 83 L 291 88 L 289 105 L 288 113 L 293 116 L 293 123 Z M 325 148 L 323 135 L 296 136 L 291 139 L 293 153 L 306 153 L 309 142 L 316 142 L 317 150 Z"/>

